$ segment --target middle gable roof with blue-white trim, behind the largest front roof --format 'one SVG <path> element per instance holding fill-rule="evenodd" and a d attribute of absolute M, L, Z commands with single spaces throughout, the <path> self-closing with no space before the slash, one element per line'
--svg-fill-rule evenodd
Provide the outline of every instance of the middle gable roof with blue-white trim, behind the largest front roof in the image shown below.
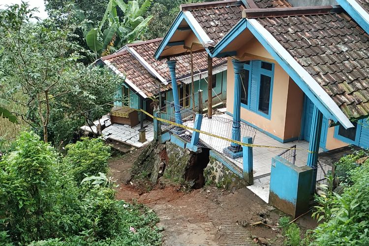
<path fill-rule="evenodd" d="M 189 27 L 188 30 L 195 33 L 203 49 L 207 49 L 215 46 L 242 19 L 244 9 L 290 6 L 287 0 L 222 0 L 182 4 L 181 12 L 155 52 L 155 58 L 162 58 L 160 57 L 162 51 L 171 42 L 183 41 L 176 40 L 174 37 L 177 31 L 183 31 L 180 30 L 181 28 Z M 178 43 L 178 45 L 183 46 L 184 44 Z M 180 53 L 177 52 L 176 55 L 178 54 Z"/>

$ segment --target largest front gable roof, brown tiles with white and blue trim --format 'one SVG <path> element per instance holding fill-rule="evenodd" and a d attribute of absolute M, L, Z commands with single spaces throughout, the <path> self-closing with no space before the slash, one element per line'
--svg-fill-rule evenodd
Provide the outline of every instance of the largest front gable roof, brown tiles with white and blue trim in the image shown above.
<path fill-rule="evenodd" d="M 249 31 L 328 119 L 349 128 L 349 118 L 369 115 L 369 36 L 341 8 L 247 9 L 243 15 L 213 56 Z"/>

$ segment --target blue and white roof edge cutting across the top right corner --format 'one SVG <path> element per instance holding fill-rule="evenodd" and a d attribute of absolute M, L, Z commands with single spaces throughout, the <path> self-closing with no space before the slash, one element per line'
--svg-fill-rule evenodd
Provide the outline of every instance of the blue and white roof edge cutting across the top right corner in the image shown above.
<path fill-rule="evenodd" d="M 337 0 L 337 2 L 369 33 L 369 0 Z"/>

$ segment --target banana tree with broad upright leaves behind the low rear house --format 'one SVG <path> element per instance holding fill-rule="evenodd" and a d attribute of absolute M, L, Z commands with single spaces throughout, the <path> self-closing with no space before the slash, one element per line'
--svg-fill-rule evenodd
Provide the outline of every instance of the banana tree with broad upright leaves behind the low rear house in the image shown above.
<path fill-rule="evenodd" d="M 128 3 L 123 0 L 109 1 L 98 27 L 90 25 L 84 30 L 87 45 L 94 53 L 95 59 L 109 55 L 125 44 L 141 38 L 152 18 L 144 18 L 142 15 L 149 9 L 152 1 L 145 0 L 141 7 L 137 0 Z M 122 19 L 117 14 L 118 7 L 123 12 Z"/>

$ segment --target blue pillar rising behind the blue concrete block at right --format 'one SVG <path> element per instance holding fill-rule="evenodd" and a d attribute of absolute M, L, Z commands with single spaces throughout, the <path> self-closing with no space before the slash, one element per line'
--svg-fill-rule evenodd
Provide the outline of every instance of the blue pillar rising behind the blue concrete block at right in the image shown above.
<path fill-rule="evenodd" d="M 309 154 L 307 155 L 307 166 L 313 169 L 313 177 L 311 181 L 311 194 L 315 193 L 316 172 L 318 167 L 318 154 L 320 135 L 322 132 L 323 114 L 314 105 L 314 111 L 311 119 Z"/>

